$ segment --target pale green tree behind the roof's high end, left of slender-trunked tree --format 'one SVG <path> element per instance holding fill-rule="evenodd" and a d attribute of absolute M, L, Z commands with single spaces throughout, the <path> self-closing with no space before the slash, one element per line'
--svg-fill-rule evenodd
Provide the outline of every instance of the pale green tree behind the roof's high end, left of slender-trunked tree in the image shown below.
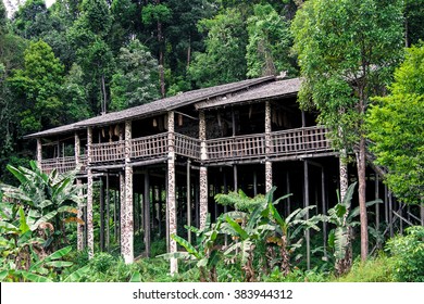
<path fill-rule="evenodd" d="M 289 55 L 291 37 L 288 22 L 271 4 L 257 4 L 254 14 L 248 18 L 247 24 L 247 76 L 277 75 L 283 71 L 294 74 Z"/>

